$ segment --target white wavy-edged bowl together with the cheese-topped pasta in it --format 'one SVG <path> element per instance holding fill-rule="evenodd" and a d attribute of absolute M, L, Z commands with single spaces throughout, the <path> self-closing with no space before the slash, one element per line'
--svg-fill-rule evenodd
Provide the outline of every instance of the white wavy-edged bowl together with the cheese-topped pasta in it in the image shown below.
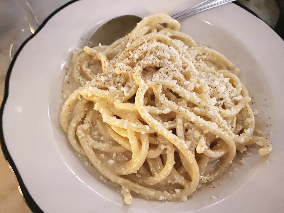
<path fill-rule="evenodd" d="M 34 212 L 281 211 L 284 42 L 233 3 L 171 18 L 191 4 L 72 1 L 20 47 L 1 144 Z"/>

